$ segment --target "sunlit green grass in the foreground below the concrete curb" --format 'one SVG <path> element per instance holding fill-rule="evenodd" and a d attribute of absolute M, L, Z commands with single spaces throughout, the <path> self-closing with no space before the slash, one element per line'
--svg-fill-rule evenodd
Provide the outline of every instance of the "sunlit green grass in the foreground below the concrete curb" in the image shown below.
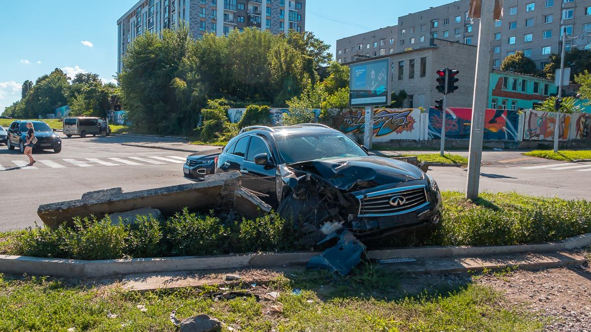
<path fill-rule="evenodd" d="M 248 331 L 532 331 L 543 326 L 489 287 L 441 285 L 440 292 L 406 297 L 398 282 L 371 266 L 345 278 L 309 271 L 251 289 L 280 292 L 277 301 L 256 302 L 203 296 L 216 287 L 138 293 L 0 275 L 0 330 L 174 331 L 168 315 L 175 309 L 177 318 L 209 314 Z"/>

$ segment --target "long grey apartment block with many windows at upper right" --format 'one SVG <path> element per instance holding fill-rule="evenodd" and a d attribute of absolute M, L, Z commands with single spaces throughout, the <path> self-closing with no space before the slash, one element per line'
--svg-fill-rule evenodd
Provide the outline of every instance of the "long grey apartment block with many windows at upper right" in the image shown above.
<path fill-rule="evenodd" d="M 428 47 L 430 38 L 478 45 L 479 20 L 468 17 L 469 5 L 469 0 L 460 0 L 401 16 L 394 27 L 363 34 L 365 37 L 376 35 L 374 39 L 366 38 L 363 43 L 374 45 L 381 38 L 392 40 L 395 52 Z M 551 53 L 560 53 L 563 32 L 574 37 L 565 43 L 567 50 L 571 47 L 591 48 L 590 0 L 505 0 L 503 12 L 503 18 L 495 21 L 493 28 L 491 47 L 495 69 L 499 69 L 504 58 L 515 51 L 524 51 L 538 68 L 543 69 Z M 345 47 L 350 50 L 349 44 L 359 43 L 358 36 L 337 40 L 337 61 L 351 61 L 350 56 L 345 59 L 345 54 L 339 56 L 339 52 L 342 53 Z M 379 48 L 369 49 L 370 56 L 375 50 L 379 51 Z"/>

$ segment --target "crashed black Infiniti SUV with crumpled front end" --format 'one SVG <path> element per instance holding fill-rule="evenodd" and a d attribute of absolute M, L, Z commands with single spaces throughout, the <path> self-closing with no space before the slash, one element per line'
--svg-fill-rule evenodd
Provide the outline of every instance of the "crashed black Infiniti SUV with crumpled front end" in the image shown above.
<path fill-rule="evenodd" d="M 433 178 L 317 123 L 242 129 L 217 156 L 215 172 L 228 171 L 241 172 L 242 187 L 282 217 L 325 234 L 345 228 L 371 239 L 441 216 Z"/>

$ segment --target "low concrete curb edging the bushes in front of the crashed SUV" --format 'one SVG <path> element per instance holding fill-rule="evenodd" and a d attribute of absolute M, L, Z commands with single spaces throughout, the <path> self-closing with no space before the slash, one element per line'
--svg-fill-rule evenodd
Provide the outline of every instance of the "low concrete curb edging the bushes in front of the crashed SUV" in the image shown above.
<path fill-rule="evenodd" d="M 495 262 L 495 266 L 512 265 L 511 261 L 517 261 L 515 255 L 524 253 L 558 253 L 564 250 L 583 248 L 591 245 L 591 233 L 580 236 L 570 237 L 569 239 L 554 242 L 542 243 L 536 245 L 517 245 L 517 246 L 447 246 L 447 247 L 425 247 L 425 248 L 403 248 L 389 250 L 370 250 L 367 255 L 370 259 L 393 259 L 393 258 L 466 258 L 465 261 L 472 259 L 472 263 L 466 265 L 457 265 L 451 271 L 458 272 L 475 269 L 478 265 L 477 257 L 492 256 L 489 261 Z M 104 261 L 81 261 L 75 259 L 51 259 L 35 258 L 27 256 L 8 256 L 0 255 L 0 272 L 7 274 L 31 274 L 31 275 L 51 275 L 63 276 L 69 278 L 98 278 L 102 276 L 130 275 L 130 274 L 150 274 L 154 272 L 174 272 L 174 271 L 213 271 L 219 269 L 244 269 L 244 268 L 279 268 L 285 266 L 304 265 L 313 256 L 319 252 L 293 252 L 293 253 L 246 253 L 238 255 L 218 255 L 218 256 L 191 256 L 191 257 L 171 257 L 171 258 L 134 258 L 134 259 L 109 259 Z M 495 257 L 496 255 L 496 257 Z M 511 256 L 513 255 L 513 256 Z M 569 258 L 564 255 L 542 255 L 551 256 L 548 259 L 537 259 L 525 262 L 528 267 L 544 267 L 568 264 L 569 262 L 581 263 L 580 258 Z M 523 255 L 521 255 L 523 256 Z M 560 259 L 560 256 L 568 259 Z M 512 258 L 511 258 L 512 257 Z M 457 259 L 455 260 L 457 261 Z M 480 259 L 486 261 L 486 259 Z M 475 263 L 476 262 L 476 263 Z M 411 272 L 433 272 L 433 264 L 426 263 L 427 267 L 417 268 L 417 265 L 409 265 L 411 268 L 406 271 Z M 415 266 L 412 268 L 412 266 Z M 401 265 L 400 268 L 403 266 Z M 478 267 L 478 266 L 476 266 Z M 448 269 L 449 270 L 449 269 Z"/>

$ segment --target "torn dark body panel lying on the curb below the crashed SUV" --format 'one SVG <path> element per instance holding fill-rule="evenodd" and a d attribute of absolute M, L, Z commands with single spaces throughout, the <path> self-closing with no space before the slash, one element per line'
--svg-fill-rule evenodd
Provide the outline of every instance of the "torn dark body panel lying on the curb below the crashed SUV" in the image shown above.
<path fill-rule="evenodd" d="M 333 232 L 318 244 L 338 239 L 335 246 L 324 250 L 322 255 L 314 256 L 308 261 L 306 268 L 327 269 L 339 275 L 348 275 L 361 262 L 365 245 L 348 230 Z"/>

